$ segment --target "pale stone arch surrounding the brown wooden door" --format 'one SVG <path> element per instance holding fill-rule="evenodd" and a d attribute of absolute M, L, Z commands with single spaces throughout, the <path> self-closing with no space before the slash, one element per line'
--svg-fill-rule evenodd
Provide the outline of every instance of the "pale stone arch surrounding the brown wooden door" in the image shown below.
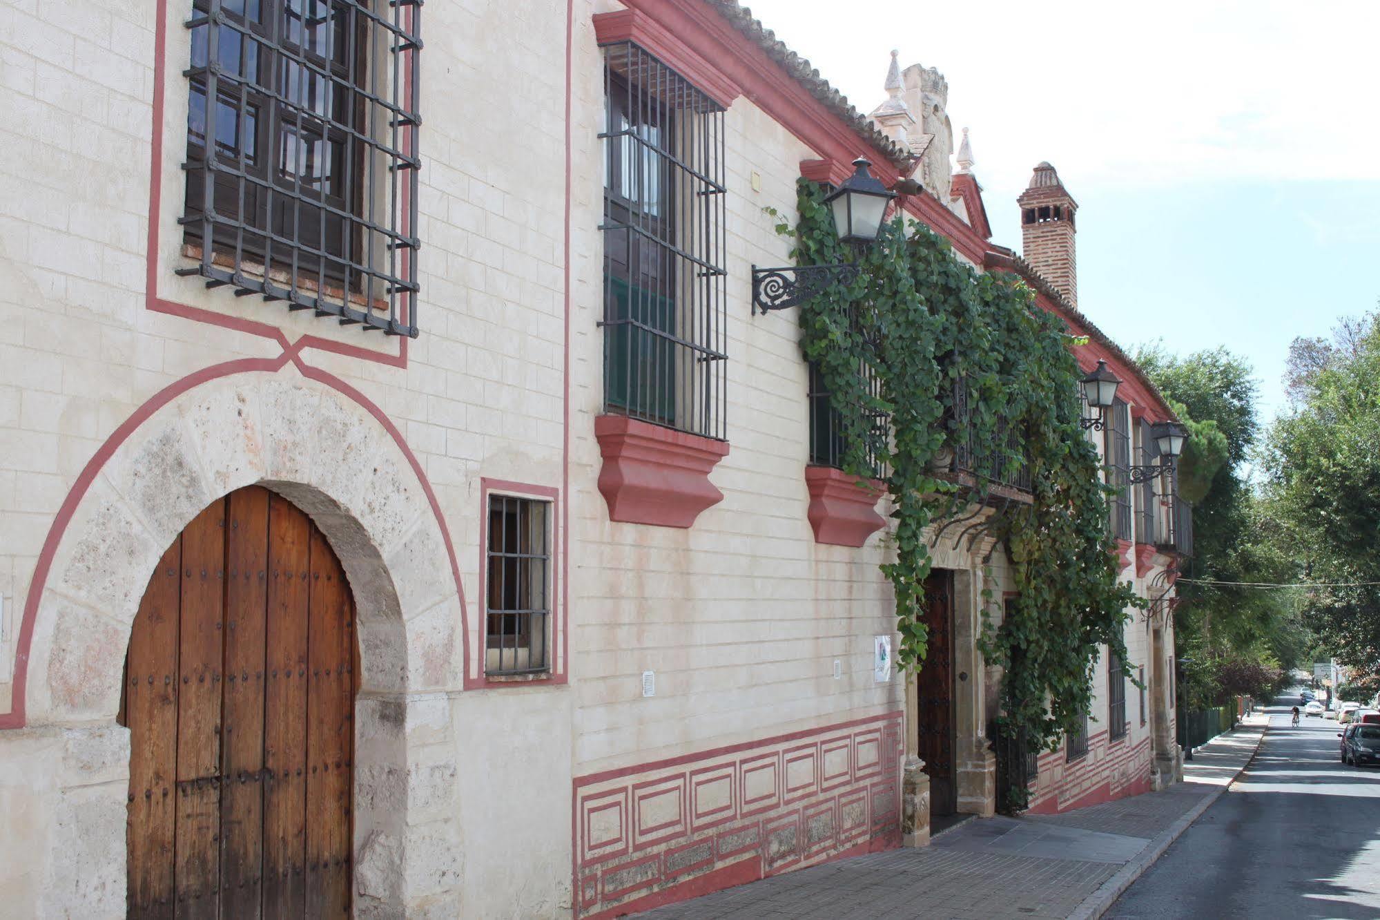
<path fill-rule="evenodd" d="M 130 629 L 163 551 L 211 501 L 247 485 L 283 495 L 315 521 L 355 595 L 357 909 L 406 909 L 414 883 L 436 892 L 435 879 L 410 872 L 415 858 L 444 859 L 413 852 L 420 821 L 408 811 L 415 794 L 408 775 L 420 760 L 431 764 L 454 750 L 437 700 L 464 684 L 458 568 L 429 488 L 396 432 L 367 401 L 319 377 L 326 376 L 298 374 L 290 363 L 277 373 L 211 377 L 168 398 L 90 478 L 46 580 L 32 587 L 41 593 L 28 648 L 29 731 L 99 749 L 94 756 L 108 780 L 99 794 L 110 798 L 68 816 L 72 823 L 58 836 L 102 845 L 87 855 L 75 888 L 44 894 L 52 906 L 124 908 L 119 779 L 127 776 L 128 735 L 115 717 Z M 428 804 L 422 829 L 431 845 L 457 840 L 448 826 L 454 809 L 437 814 L 437 803 Z M 50 851 L 50 870 L 61 851 Z"/>

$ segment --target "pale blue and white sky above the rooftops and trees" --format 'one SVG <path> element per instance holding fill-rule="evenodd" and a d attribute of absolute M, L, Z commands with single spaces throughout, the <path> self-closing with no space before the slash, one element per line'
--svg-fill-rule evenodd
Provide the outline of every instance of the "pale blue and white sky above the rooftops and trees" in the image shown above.
<path fill-rule="evenodd" d="M 948 80 L 992 239 L 1049 160 L 1078 305 L 1130 349 L 1225 345 L 1288 408 L 1296 336 L 1380 301 L 1380 0 L 741 0 L 862 112 L 890 51 Z"/>

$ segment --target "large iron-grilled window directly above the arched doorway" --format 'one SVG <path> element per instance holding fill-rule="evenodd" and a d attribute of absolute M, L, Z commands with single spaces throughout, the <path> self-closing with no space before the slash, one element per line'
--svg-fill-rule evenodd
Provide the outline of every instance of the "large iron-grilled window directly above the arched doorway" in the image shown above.
<path fill-rule="evenodd" d="M 420 7 L 193 0 L 179 275 L 417 334 Z"/>

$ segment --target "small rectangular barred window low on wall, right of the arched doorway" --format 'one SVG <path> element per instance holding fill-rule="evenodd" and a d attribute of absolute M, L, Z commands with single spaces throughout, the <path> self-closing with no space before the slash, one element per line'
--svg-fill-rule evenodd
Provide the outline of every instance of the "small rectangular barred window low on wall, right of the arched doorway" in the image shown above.
<path fill-rule="evenodd" d="M 484 673 L 551 669 L 551 503 L 489 496 Z"/>

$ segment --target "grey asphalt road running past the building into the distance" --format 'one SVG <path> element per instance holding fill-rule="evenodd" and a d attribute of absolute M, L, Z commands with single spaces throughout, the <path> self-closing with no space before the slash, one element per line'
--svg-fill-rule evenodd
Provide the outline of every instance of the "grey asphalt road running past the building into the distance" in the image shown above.
<path fill-rule="evenodd" d="M 1337 722 L 1268 709 L 1241 779 L 1104 917 L 1380 917 L 1380 768 L 1346 767 Z"/>

